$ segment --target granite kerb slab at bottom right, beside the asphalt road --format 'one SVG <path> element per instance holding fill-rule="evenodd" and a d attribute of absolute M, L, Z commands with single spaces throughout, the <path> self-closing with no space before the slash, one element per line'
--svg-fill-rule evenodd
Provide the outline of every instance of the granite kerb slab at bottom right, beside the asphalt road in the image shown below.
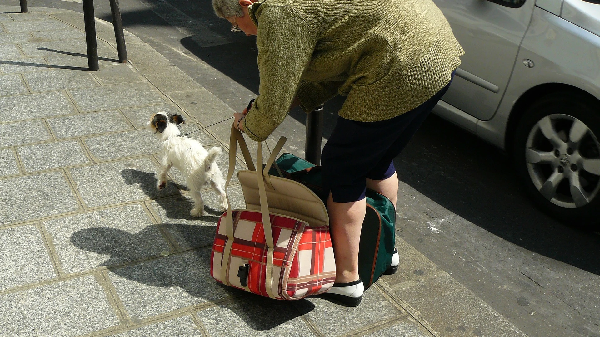
<path fill-rule="evenodd" d="M 394 286 L 406 300 L 438 332 L 449 337 L 526 335 L 506 318 L 494 311 L 470 290 L 445 272 L 437 272 L 420 282 L 404 282 Z"/>

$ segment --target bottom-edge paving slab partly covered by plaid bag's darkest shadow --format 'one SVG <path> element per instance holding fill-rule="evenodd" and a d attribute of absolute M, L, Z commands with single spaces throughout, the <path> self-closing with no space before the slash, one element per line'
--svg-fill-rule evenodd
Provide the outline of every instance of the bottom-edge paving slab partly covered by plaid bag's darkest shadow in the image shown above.
<path fill-rule="evenodd" d="M 315 336 L 300 317 L 303 313 L 290 302 L 254 294 L 197 312 L 200 323 L 212 337 Z"/>

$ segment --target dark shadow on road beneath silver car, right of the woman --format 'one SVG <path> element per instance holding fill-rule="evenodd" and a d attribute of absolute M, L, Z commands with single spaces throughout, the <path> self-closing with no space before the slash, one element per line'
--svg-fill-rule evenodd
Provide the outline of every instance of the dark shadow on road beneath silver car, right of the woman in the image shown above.
<path fill-rule="evenodd" d="M 600 275 L 600 236 L 538 210 L 493 145 L 431 115 L 394 163 L 399 180 L 484 230 Z"/>

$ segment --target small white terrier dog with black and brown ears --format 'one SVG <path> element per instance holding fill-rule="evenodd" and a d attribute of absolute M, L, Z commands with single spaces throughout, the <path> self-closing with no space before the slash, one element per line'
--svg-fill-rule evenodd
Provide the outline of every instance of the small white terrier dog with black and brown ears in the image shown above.
<path fill-rule="evenodd" d="M 221 212 L 227 209 L 225 198 L 225 179 L 215 163 L 221 154 L 221 148 L 215 146 L 206 151 L 200 143 L 188 137 L 181 137 L 181 126 L 184 118 L 181 115 L 170 115 L 159 112 L 152 115 L 148 127 L 162 140 L 160 143 L 160 172 L 158 173 L 158 189 L 167 186 L 167 172 L 172 166 L 185 175 L 185 180 L 194 199 L 192 216 L 202 216 L 204 200 L 200 190 L 207 183 L 217 192 Z"/>

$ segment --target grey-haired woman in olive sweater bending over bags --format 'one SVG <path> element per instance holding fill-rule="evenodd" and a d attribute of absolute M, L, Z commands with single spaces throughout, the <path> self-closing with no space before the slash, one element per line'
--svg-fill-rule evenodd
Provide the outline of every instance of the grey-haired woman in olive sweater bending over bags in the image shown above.
<path fill-rule="evenodd" d="M 358 305 L 365 188 L 396 203 L 393 158 L 448 89 L 463 49 L 431 0 L 212 0 L 232 31 L 256 35 L 260 95 L 233 124 L 257 142 L 301 106 L 346 96 L 323 148 L 337 275 L 328 292 Z M 398 264 L 397 256 L 392 266 Z"/>

